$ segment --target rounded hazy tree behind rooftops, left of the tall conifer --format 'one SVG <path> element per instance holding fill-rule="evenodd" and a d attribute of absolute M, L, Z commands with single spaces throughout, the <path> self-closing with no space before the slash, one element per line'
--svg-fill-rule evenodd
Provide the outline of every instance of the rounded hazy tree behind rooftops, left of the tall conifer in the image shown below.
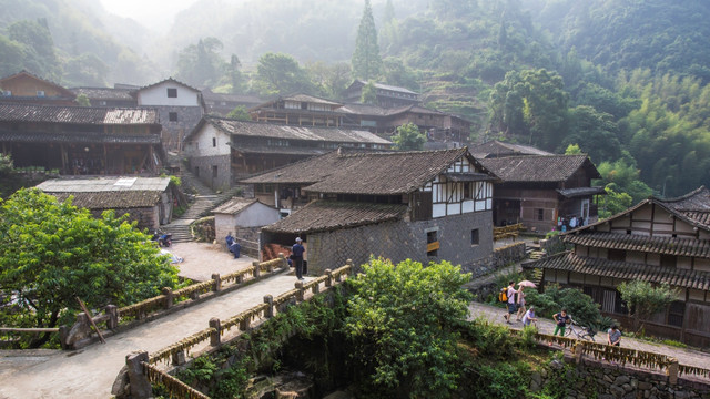
<path fill-rule="evenodd" d="M 272 52 L 258 59 L 254 86 L 261 95 L 311 94 L 314 91 L 298 61 L 291 55 Z"/>

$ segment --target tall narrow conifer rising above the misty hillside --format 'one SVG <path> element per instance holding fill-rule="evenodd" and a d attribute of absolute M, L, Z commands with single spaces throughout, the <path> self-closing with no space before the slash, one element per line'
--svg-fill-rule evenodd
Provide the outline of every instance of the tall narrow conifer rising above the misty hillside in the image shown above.
<path fill-rule="evenodd" d="M 369 0 L 365 0 L 365 10 L 357 28 L 355 51 L 353 52 L 353 76 L 355 79 L 377 79 L 382 72 L 382 58 L 377 44 L 377 28 Z"/>

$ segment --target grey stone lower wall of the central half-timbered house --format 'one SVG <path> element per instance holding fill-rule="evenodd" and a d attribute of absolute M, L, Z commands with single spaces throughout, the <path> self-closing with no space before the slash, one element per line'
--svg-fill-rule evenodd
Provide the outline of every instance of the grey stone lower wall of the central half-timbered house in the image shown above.
<path fill-rule="evenodd" d="M 440 247 L 427 256 L 427 232 L 437 229 Z M 471 245 L 471 229 L 478 229 L 477 245 Z M 474 272 L 477 265 L 491 262 L 493 226 L 489 212 L 447 216 L 422 222 L 387 222 L 334 232 L 312 233 L 306 237 L 308 272 L 322 274 L 353 259 L 356 272 L 369 256 L 383 256 L 394 263 L 407 258 L 428 264 L 448 260 Z M 271 239 L 264 237 L 264 243 Z"/>

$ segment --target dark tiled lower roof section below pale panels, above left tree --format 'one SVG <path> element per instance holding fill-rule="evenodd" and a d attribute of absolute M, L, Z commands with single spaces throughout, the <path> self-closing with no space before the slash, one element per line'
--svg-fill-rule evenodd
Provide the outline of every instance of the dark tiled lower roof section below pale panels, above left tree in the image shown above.
<path fill-rule="evenodd" d="M 160 202 L 160 192 L 155 191 L 124 191 L 124 192 L 45 192 L 64 201 L 73 195 L 72 204 L 89 209 L 126 209 L 136 207 L 151 207 Z"/>

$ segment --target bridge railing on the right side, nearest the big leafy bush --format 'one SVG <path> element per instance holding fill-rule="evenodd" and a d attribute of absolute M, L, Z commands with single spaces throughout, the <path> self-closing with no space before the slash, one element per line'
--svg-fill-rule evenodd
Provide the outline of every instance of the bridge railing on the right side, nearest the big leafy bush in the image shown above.
<path fill-rule="evenodd" d="M 133 354 L 129 355 L 126 357 L 128 371 L 123 378 L 124 386 L 130 386 L 131 389 L 133 389 L 133 387 L 145 386 L 148 380 L 149 385 L 150 382 L 163 383 L 169 390 L 171 397 L 206 398 L 203 393 L 190 388 L 172 377 L 169 370 L 159 369 L 156 365 L 161 361 L 170 361 L 169 369 L 171 367 L 184 365 L 186 362 L 186 356 L 190 355 L 191 350 L 211 350 L 237 338 L 244 331 L 258 328 L 263 321 L 274 317 L 278 313 L 285 311 L 288 306 L 308 300 L 314 295 L 326 291 L 336 286 L 346 279 L 352 274 L 352 270 L 353 264 L 352 260 L 348 260 L 345 266 L 335 270 L 326 269 L 323 276 L 316 277 L 307 283 L 296 282 L 294 289 L 281 294 L 277 297 L 266 295 L 264 296 L 263 304 L 258 304 L 250 309 L 241 311 L 226 320 L 212 318 L 210 319 L 210 326 L 207 328 L 160 349 L 150 356 L 148 352 L 140 352 L 138 355 L 141 360 L 135 360 L 139 357 L 133 356 Z M 230 331 L 234 327 L 239 328 L 239 332 L 232 334 L 229 339 L 223 339 L 225 332 Z M 132 367 L 135 368 L 135 365 L 131 366 L 132 361 L 138 361 L 142 365 L 141 375 L 131 374 L 130 370 Z M 133 398 L 143 398 L 140 393 L 136 395 L 135 392 L 132 392 L 132 395 Z M 148 390 L 146 395 L 150 395 L 150 390 Z"/>

